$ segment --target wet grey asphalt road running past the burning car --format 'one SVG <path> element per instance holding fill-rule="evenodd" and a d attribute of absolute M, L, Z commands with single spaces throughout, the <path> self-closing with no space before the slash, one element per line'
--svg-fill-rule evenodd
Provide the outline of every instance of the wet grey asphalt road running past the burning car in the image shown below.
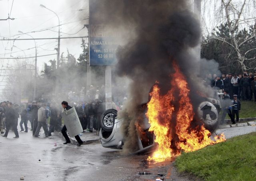
<path fill-rule="evenodd" d="M 225 128 L 227 138 L 256 131 L 256 126 Z M 10 131 L 8 138 L 0 136 L 0 181 L 126 181 L 194 180 L 191 175 L 180 175 L 172 161 L 148 163 L 148 155 L 122 155 L 119 150 L 103 148 L 101 144 L 77 147 L 64 145 L 57 136 L 32 137 L 32 131 L 19 132 L 20 138 Z M 56 143 L 57 146 L 54 146 Z M 39 161 L 40 160 L 40 161 Z M 158 175 L 159 174 L 159 175 Z"/>

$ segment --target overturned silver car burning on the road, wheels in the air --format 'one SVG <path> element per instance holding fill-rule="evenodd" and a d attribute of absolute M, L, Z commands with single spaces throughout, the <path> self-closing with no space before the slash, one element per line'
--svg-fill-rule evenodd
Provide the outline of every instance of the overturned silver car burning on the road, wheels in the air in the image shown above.
<path fill-rule="evenodd" d="M 146 117 L 147 103 L 141 105 L 140 121 L 143 135 L 138 135 L 138 150 L 134 153 L 148 152 L 154 148 L 154 133 L 149 132 L 150 124 Z M 214 98 L 204 98 L 199 104 L 196 115 L 203 122 L 204 127 L 210 132 L 214 132 L 219 123 L 221 110 L 220 100 Z M 124 134 L 121 132 L 123 119 L 118 119 L 117 111 L 114 109 L 106 110 L 100 120 L 100 141 L 105 148 L 122 149 L 124 145 Z"/>

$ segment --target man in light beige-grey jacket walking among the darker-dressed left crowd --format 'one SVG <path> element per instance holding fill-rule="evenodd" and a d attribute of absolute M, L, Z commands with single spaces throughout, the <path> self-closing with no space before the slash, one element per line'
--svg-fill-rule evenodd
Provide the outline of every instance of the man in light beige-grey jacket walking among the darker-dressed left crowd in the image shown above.
<path fill-rule="evenodd" d="M 35 137 L 39 136 L 41 127 L 43 127 L 44 129 L 45 136 L 48 137 L 48 127 L 47 127 L 45 108 L 46 108 L 46 104 L 42 103 L 42 107 L 38 109 L 38 125 L 36 127 L 36 132 L 34 135 Z"/>

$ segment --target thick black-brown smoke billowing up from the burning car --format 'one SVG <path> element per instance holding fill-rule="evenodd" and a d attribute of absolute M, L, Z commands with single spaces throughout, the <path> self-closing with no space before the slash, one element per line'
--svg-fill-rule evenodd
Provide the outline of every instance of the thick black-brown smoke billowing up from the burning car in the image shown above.
<path fill-rule="evenodd" d="M 102 1 L 105 2 L 105 1 Z M 200 24 L 196 15 L 190 11 L 186 0 L 111 0 L 102 3 L 102 11 L 111 20 L 113 27 L 130 28 L 133 31 L 125 46 L 118 51 L 116 73 L 127 76 L 132 82 L 129 86 L 130 101 L 119 112 L 124 118 L 122 130 L 126 138 L 124 151 L 136 149 L 136 129 L 141 116 L 139 105 L 147 102 L 150 87 L 159 81 L 161 93 L 170 87 L 170 74 L 174 73 L 175 61 L 191 89 L 190 98 L 195 105 L 198 91 L 207 92 L 202 86 L 200 63 L 192 49 L 200 41 Z M 204 64 L 206 66 L 206 63 Z M 174 75 L 175 76 L 175 75 Z"/>

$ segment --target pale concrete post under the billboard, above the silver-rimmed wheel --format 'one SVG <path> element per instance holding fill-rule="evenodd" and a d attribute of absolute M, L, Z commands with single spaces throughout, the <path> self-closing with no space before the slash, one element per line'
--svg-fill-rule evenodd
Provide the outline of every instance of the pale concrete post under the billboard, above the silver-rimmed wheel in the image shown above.
<path fill-rule="evenodd" d="M 106 70 L 105 70 L 105 93 L 106 93 L 106 110 L 108 110 L 112 108 L 111 66 L 106 66 Z"/>

